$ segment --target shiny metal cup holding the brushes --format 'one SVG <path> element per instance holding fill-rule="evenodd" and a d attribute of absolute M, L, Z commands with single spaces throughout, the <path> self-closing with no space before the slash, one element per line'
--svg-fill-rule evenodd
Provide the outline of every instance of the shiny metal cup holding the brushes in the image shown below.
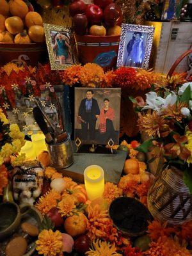
<path fill-rule="evenodd" d="M 67 168 L 74 163 L 74 154 L 70 135 L 67 139 L 60 143 L 47 144 L 49 156 L 51 157 L 51 165 L 56 168 Z"/>

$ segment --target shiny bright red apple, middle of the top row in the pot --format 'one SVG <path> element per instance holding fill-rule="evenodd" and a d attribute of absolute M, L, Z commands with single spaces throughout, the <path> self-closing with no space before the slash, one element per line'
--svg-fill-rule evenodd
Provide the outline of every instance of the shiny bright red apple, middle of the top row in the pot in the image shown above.
<path fill-rule="evenodd" d="M 99 25 L 103 20 L 102 10 L 95 4 L 88 4 L 85 10 L 85 15 L 91 25 Z"/>

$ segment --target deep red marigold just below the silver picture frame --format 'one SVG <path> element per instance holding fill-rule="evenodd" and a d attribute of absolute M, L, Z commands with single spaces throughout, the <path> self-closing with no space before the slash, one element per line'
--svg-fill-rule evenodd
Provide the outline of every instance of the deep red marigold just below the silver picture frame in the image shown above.
<path fill-rule="evenodd" d="M 131 87 L 134 88 L 136 83 L 136 70 L 134 68 L 120 67 L 115 70 L 116 75 L 113 78 L 113 83 L 116 87 Z"/>

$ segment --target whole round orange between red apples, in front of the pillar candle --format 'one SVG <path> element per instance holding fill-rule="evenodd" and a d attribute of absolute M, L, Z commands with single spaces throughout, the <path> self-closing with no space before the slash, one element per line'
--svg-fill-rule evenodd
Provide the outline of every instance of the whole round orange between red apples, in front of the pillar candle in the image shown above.
<path fill-rule="evenodd" d="M 68 217 L 64 222 L 64 228 L 70 236 L 79 236 L 86 232 L 87 218 L 82 212 Z"/>

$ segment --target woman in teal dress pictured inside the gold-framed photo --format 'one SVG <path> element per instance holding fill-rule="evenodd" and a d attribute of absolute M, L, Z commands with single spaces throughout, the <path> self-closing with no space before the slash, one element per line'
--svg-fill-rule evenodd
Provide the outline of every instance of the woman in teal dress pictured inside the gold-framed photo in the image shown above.
<path fill-rule="evenodd" d="M 62 33 L 54 35 L 53 49 L 55 59 L 60 65 L 72 63 L 70 42 L 66 35 Z"/>

